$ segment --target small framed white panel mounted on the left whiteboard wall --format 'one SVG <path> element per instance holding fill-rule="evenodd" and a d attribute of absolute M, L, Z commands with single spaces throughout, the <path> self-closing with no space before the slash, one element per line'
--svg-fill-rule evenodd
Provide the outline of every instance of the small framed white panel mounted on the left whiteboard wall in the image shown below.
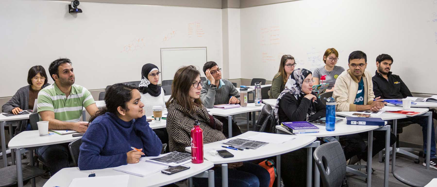
<path fill-rule="evenodd" d="M 161 48 L 161 80 L 173 80 L 181 66 L 195 66 L 201 76 L 206 63 L 206 47 Z"/>

